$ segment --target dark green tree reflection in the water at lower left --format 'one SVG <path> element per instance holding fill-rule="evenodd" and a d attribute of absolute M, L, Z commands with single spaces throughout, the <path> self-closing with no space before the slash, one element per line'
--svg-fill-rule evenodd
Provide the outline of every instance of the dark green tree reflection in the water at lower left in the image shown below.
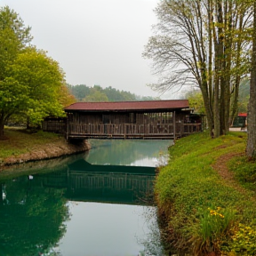
<path fill-rule="evenodd" d="M 66 232 L 63 223 L 68 220 L 68 206 L 62 196 L 64 189 L 33 186 L 34 181 L 20 177 L 2 183 L 1 256 L 45 255 Z"/>

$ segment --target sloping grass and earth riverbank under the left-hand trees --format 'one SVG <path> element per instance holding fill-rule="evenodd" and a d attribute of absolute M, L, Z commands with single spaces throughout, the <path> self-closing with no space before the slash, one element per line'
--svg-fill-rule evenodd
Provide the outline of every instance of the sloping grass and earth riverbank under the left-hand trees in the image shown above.
<path fill-rule="evenodd" d="M 90 144 L 68 143 L 63 136 L 52 132 L 30 133 L 25 129 L 4 129 L 5 140 L 0 140 L 0 171 L 4 166 L 29 161 L 68 156 L 90 149 Z"/>

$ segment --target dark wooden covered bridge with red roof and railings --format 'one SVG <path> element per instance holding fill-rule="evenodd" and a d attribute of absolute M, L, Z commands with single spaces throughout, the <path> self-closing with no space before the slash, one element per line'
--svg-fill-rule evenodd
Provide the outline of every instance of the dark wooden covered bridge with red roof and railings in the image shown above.
<path fill-rule="evenodd" d="M 67 139 L 176 139 L 202 131 L 188 100 L 77 102 L 67 119 L 45 119 L 44 131 L 61 130 Z"/>

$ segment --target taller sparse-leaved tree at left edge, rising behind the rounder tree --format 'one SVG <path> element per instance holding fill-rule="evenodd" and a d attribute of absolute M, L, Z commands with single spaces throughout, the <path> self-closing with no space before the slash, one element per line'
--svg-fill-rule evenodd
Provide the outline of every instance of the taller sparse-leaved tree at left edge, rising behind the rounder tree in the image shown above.
<path fill-rule="evenodd" d="M 8 76 L 8 67 L 16 60 L 20 51 L 32 40 L 30 28 L 24 25 L 19 15 L 8 6 L 0 9 L 0 138 L 4 136 L 4 124 L 13 114 L 13 109 L 25 102 L 23 88 L 12 77 Z M 4 110 L 12 102 L 12 110 Z"/>

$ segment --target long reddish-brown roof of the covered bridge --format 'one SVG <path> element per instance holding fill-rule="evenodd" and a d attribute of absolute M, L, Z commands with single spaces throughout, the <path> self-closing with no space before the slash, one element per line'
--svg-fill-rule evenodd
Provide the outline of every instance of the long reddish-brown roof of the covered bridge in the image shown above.
<path fill-rule="evenodd" d="M 130 111 L 130 110 L 171 110 L 189 108 L 188 100 L 150 100 L 150 101 L 116 101 L 116 102 L 76 102 L 65 111 Z"/>

